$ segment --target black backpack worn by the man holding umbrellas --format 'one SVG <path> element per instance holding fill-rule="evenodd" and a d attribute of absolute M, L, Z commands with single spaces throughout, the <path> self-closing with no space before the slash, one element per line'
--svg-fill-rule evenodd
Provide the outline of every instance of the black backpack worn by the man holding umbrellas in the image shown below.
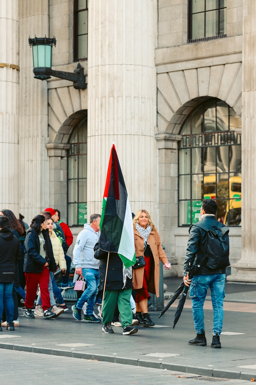
<path fill-rule="evenodd" d="M 204 263 L 207 269 L 224 269 L 230 266 L 229 261 L 229 229 L 218 222 L 209 229 L 201 222 L 193 224 L 193 226 L 200 227 L 207 233 L 207 241 L 205 248 L 206 261 Z"/>

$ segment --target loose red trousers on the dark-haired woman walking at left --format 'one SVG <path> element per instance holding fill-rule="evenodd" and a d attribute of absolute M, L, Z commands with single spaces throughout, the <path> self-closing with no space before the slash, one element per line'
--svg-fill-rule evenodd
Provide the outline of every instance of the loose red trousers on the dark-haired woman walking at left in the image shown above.
<path fill-rule="evenodd" d="M 25 300 L 26 309 L 31 309 L 34 306 L 38 283 L 41 291 L 42 308 L 43 310 L 50 308 L 51 302 L 50 302 L 50 294 L 48 290 L 49 279 L 50 279 L 49 268 L 43 266 L 43 271 L 41 273 L 25 273 L 25 277 L 26 277 L 26 300 Z"/>

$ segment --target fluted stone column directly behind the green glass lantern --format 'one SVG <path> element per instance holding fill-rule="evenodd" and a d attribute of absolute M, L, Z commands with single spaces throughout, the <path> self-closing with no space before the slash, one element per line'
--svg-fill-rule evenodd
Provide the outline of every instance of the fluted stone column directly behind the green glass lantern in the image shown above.
<path fill-rule="evenodd" d="M 49 201 L 47 82 L 34 79 L 28 37 L 49 34 L 48 0 L 20 0 L 20 213 L 30 223 Z M 57 176 L 55 176 L 57 177 Z M 53 177 L 54 181 L 54 177 Z M 53 189 L 53 181 L 51 183 Z"/>

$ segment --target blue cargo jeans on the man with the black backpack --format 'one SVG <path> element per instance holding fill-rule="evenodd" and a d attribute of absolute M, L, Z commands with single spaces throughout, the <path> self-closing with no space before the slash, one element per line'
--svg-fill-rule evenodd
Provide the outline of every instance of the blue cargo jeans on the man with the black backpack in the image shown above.
<path fill-rule="evenodd" d="M 225 274 L 195 275 L 191 281 L 189 296 L 192 298 L 193 319 L 195 331 L 203 333 L 203 304 L 207 289 L 211 290 L 213 305 L 213 332 L 221 333 L 223 325 L 223 298 L 225 298 Z"/>

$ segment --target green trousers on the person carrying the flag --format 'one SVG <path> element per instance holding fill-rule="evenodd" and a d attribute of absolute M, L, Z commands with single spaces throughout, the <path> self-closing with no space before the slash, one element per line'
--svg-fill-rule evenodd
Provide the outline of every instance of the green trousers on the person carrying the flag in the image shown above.
<path fill-rule="evenodd" d="M 116 302 L 121 316 L 122 327 L 125 328 L 132 323 L 132 307 L 130 305 L 131 294 L 132 289 L 105 291 L 102 309 L 102 321 L 104 325 L 108 322 L 112 322 Z"/>

